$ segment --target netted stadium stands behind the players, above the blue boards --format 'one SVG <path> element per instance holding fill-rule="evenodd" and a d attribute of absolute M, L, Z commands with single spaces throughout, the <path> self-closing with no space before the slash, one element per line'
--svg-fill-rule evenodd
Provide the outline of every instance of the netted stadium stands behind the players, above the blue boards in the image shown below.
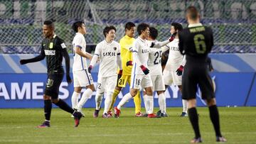
<path fill-rule="evenodd" d="M 172 22 L 187 26 L 184 11 L 191 5 L 213 28 L 213 52 L 256 52 L 255 0 L 0 0 L 0 52 L 38 52 L 47 19 L 55 20 L 55 33 L 68 48 L 75 34 L 71 26 L 78 20 L 85 22 L 89 47 L 104 39 L 105 26 L 117 28 L 119 41 L 128 21 L 149 23 L 159 30 L 157 39 L 165 40 Z"/>

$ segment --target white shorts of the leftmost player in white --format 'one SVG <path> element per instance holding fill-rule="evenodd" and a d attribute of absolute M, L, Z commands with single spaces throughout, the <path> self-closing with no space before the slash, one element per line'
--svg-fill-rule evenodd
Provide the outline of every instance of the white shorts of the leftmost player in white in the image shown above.
<path fill-rule="evenodd" d="M 86 87 L 93 84 L 92 75 L 87 70 L 73 72 L 74 87 Z"/>

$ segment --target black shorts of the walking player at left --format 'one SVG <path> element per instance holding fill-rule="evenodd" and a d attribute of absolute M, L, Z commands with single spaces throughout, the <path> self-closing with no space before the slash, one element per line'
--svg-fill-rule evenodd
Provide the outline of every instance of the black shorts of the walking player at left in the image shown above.
<path fill-rule="evenodd" d="M 63 73 L 60 74 L 49 74 L 47 77 L 46 89 L 44 94 L 51 96 L 52 99 L 58 98 L 59 87 L 63 80 Z"/>

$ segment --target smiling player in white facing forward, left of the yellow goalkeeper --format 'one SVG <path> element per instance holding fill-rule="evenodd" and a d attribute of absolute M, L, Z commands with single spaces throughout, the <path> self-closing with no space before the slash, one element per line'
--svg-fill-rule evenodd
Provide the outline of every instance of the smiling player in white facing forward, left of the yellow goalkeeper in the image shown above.
<path fill-rule="evenodd" d="M 94 117 L 97 117 L 102 103 L 102 96 L 107 92 L 105 99 L 105 108 L 102 114 L 103 118 L 112 117 L 112 113 L 108 113 L 112 101 L 112 94 L 117 82 L 117 65 L 119 72 L 122 72 L 122 62 L 120 57 L 120 45 L 114 41 L 116 28 L 114 26 L 107 26 L 104 28 L 103 33 L 105 40 L 98 43 L 95 48 L 95 55 L 89 66 L 89 72 L 95 65 L 97 58 L 100 58 L 100 70 L 97 79 L 97 94 L 95 96 L 96 109 Z M 119 73 L 120 74 L 120 73 Z"/>

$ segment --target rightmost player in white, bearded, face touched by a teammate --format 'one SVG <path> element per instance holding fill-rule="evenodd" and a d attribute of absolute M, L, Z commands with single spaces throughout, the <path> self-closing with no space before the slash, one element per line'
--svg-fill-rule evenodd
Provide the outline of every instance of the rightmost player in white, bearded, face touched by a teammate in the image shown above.
<path fill-rule="evenodd" d="M 176 35 L 176 33 L 179 33 L 182 31 L 182 26 L 180 23 L 171 23 L 171 34 Z M 166 85 L 166 88 L 174 84 L 178 86 L 178 89 L 180 92 L 182 91 L 182 72 L 183 67 L 186 64 L 186 58 L 181 55 L 178 48 L 178 35 L 175 36 L 174 41 L 169 43 L 168 45 L 164 46 L 164 50 L 169 50 L 169 57 L 166 62 L 166 66 L 164 68 L 164 84 Z M 182 105 L 183 105 L 183 111 L 181 113 L 181 116 L 188 116 L 188 101 L 186 99 L 182 99 Z"/>

